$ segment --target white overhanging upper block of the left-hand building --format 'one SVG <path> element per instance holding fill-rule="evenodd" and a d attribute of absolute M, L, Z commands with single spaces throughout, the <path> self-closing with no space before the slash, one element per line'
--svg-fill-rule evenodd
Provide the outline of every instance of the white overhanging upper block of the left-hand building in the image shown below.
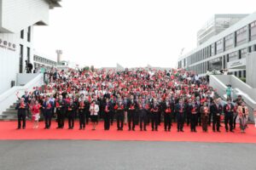
<path fill-rule="evenodd" d="M 44 0 L 2 0 L 0 28 L 16 33 L 39 21 L 48 25 L 49 3 Z"/>

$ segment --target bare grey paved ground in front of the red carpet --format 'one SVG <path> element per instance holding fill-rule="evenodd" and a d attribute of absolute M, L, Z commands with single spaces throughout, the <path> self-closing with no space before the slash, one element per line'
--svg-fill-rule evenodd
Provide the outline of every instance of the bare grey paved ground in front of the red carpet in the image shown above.
<path fill-rule="evenodd" d="M 0 141 L 0 169 L 256 169 L 256 144 Z"/>

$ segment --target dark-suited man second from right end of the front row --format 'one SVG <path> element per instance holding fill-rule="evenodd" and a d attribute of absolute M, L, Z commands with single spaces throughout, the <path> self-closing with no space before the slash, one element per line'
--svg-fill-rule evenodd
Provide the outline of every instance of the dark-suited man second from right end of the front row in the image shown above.
<path fill-rule="evenodd" d="M 234 105 L 231 104 L 231 99 L 227 99 L 227 104 L 224 105 L 224 123 L 226 132 L 229 132 L 229 125 L 230 125 L 230 132 L 234 133 L 233 131 L 233 116 L 234 116 Z"/>

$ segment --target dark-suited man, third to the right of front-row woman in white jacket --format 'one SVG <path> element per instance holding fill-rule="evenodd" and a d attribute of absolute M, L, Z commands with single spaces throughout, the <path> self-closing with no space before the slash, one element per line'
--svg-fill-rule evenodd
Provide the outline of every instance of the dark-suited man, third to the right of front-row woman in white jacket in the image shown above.
<path fill-rule="evenodd" d="M 131 131 L 131 122 L 132 130 L 135 131 L 135 116 L 137 110 L 137 101 L 134 100 L 133 95 L 131 95 L 130 100 L 127 103 L 127 112 L 128 112 L 128 130 Z"/>

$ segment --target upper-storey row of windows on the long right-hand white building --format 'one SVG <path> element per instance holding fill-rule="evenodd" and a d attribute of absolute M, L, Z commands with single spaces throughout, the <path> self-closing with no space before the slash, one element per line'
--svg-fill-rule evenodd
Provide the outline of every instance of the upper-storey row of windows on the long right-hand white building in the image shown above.
<path fill-rule="evenodd" d="M 256 21 L 253 21 L 250 26 L 254 26 L 255 23 Z M 256 39 L 256 26 L 253 28 L 249 27 L 248 31 L 248 41 Z M 212 43 L 207 48 L 203 48 L 195 54 L 191 54 L 187 59 L 185 59 L 184 63 L 186 63 L 187 65 L 193 65 L 194 63 L 199 62 L 202 59 L 207 59 L 216 54 L 221 54 L 224 51 L 229 50 L 230 48 L 238 47 L 245 42 L 247 42 L 247 26 L 243 26 L 235 33 L 231 33 L 230 35 L 218 40 L 217 42 Z M 241 55 L 243 57 L 245 54 Z"/>

